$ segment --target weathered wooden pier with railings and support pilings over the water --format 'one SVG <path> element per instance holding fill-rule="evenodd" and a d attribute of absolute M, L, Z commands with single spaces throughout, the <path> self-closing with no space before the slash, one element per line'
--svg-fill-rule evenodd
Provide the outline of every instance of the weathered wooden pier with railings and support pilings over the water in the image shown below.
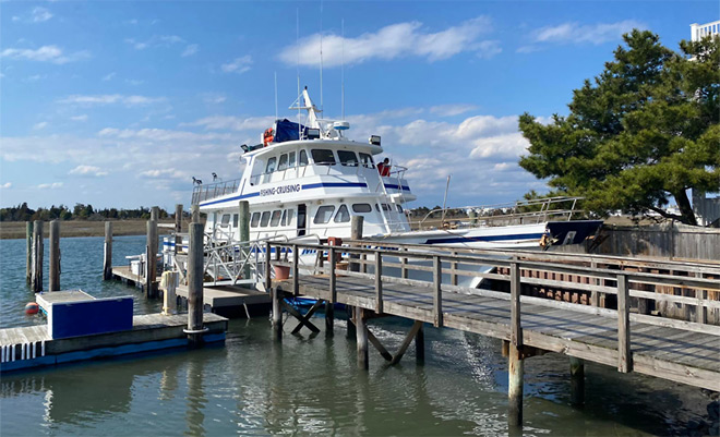
<path fill-rule="evenodd" d="M 583 362 L 588 361 L 616 367 L 621 373 L 636 372 L 720 391 L 720 326 L 707 324 L 704 316 L 708 311 L 720 308 L 720 269 L 717 266 L 686 265 L 686 269 L 695 274 L 679 277 L 634 271 L 634 264 L 627 258 L 613 262 L 607 256 L 420 248 L 362 241 L 351 242 L 350 247 L 343 246 L 341 251 L 350 256 L 350 271 L 345 271 L 336 268 L 336 251 L 339 250 L 333 246 L 268 243 L 266 253 L 273 250 L 279 253 L 280 247 L 290 248 L 286 253 L 292 254 L 304 248 L 317 251 L 323 257 L 327 254 L 327 260 L 321 271 L 308 272 L 299 269 L 302 267 L 297 256 L 266 260 L 268 267 L 271 264 L 292 267 L 290 279 L 268 283 L 276 300 L 274 313 L 284 306 L 281 300 L 286 295 L 352 306 L 360 367 L 368 366 L 368 342 L 389 364 L 400 361 L 412 340 L 417 353 L 424 356 L 423 324 L 503 340 L 503 352 L 508 356 L 511 425 L 521 422 L 523 361 L 547 352 L 568 355 L 574 378 L 583 378 Z M 635 260 L 638 263 L 651 265 L 656 270 L 665 271 L 668 268 L 662 262 Z M 598 268 L 599 264 L 604 268 Z M 470 271 L 463 269 L 461 265 L 478 268 Z M 616 267 L 609 268 L 610 265 Z M 492 268 L 481 269 L 480 266 Z M 681 267 L 680 263 L 674 265 L 674 268 Z M 386 276 L 388 268 L 395 272 L 400 269 L 400 277 Z M 412 270 L 429 272 L 431 279 L 409 279 Z M 459 287 L 456 286 L 458 276 L 505 282 L 509 292 Z M 616 307 L 600 307 L 521 295 L 527 287 L 579 289 L 612 295 L 617 304 Z M 675 295 L 648 291 L 653 287 L 670 287 L 681 292 Z M 631 302 L 643 300 L 695 306 L 697 320 L 639 314 L 638 308 L 631 308 Z M 310 320 L 312 311 L 305 316 L 293 315 L 299 320 L 296 331 L 302 327 L 317 330 Z M 387 351 L 368 328 L 369 319 L 382 315 L 415 321 L 395 354 Z M 281 337 L 283 318 L 274 314 L 273 320 L 278 337 Z M 576 390 L 583 390 L 583 386 L 573 385 L 579 387 Z M 581 400 L 583 393 L 574 393 L 573 398 Z"/>

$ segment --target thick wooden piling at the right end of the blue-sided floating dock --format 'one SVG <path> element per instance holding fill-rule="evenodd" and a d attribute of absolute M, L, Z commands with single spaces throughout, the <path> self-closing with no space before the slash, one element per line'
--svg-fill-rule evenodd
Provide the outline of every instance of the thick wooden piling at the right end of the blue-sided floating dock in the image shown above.
<path fill-rule="evenodd" d="M 197 348 L 203 341 L 203 271 L 205 248 L 203 241 L 203 224 L 190 224 L 190 241 L 188 246 L 188 343 Z"/>

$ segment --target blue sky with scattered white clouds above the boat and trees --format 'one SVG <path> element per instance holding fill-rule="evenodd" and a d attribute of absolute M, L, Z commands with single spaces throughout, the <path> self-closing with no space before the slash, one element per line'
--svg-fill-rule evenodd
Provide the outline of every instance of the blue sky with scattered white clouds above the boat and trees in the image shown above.
<path fill-rule="evenodd" d="M 382 136 L 410 206 L 518 199 L 517 117 L 566 114 L 622 34 L 677 49 L 712 1 L 0 1 L 0 206 L 189 208 L 298 75 L 350 138 Z M 323 69 L 321 98 L 320 40 Z M 345 108 L 341 85 L 345 83 Z"/>

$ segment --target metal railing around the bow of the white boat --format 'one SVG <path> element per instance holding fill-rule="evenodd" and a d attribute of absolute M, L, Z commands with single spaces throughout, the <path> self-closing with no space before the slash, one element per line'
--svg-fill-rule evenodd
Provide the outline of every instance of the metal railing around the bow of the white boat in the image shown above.
<path fill-rule="evenodd" d="M 436 208 L 412 224 L 417 229 L 428 229 L 530 224 L 551 220 L 569 221 L 573 215 L 581 213 L 576 209 L 577 201 L 583 197 L 555 196 L 517 201 L 509 204 Z"/>

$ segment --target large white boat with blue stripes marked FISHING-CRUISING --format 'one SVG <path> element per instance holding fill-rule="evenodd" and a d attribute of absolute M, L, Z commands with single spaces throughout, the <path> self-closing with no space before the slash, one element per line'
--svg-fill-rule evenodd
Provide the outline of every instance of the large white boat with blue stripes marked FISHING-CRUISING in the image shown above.
<path fill-rule="evenodd" d="M 250 205 L 250 241 L 349 239 L 351 217 L 362 216 L 363 239 L 541 250 L 580 243 L 601 224 L 596 220 L 571 220 L 573 208 L 552 210 L 552 205 L 565 202 L 555 198 L 515 204 L 515 210 L 468 208 L 470 220 L 456 223 L 459 226 L 413 230 L 406 204 L 416 195 L 405 179 L 407 169 L 394 162 L 377 162 L 375 157 L 383 153 L 381 137 L 373 135 L 368 142 L 347 138 L 349 123 L 319 118 L 320 110 L 307 88 L 296 101 L 298 105 L 291 109 L 307 111 L 304 123 L 277 120 L 262 134 L 261 144 L 243 145 L 240 179 L 195 184 L 192 204 L 207 215 L 205 234 L 213 245 L 235 245 L 237 251 L 240 201 Z M 523 213 L 523 208 L 528 211 Z M 499 221 L 504 224 L 492 226 Z M 166 240 L 166 255 L 173 244 L 173 239 Z M 304 266 L 315 263 L 313 251 L 303 251 L 300 257 Z"/>

